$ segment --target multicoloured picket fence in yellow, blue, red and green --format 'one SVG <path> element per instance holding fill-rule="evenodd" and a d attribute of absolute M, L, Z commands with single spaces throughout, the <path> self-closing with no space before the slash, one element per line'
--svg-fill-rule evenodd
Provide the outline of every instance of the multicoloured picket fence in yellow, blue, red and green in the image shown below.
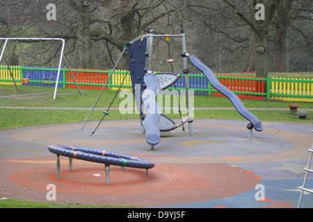
<path fill-rule="evenodd" d="M 58 73 L 57 68 L 42 67 L 10 67 L 17 83 L 29 85 L 55 86 Z M 114 71 L 112 78 L 111 69 L 76 69 L 62 68 L 58 87 L 76 87 L 72 74 L 81 89 L 118 89 L 119 87 L 131 89 L 129 71 Z M 169 89 L 186 89 L 185 76 L 180 74 L 177 83 Z M 189 89 L 195 94 L 209 96 L 223 96 L 211 86 L 203 74 L 188 74 Z M 313 102 L 313 79 L 301 78 L 257 78 L 255 76 L 232 76 L 216 74 L 216 78 L 241 99 L 258 99 L 266 101 L 305 101 Z M 0 67 L 0 84 L 13 84 L 8 67 Z"/>

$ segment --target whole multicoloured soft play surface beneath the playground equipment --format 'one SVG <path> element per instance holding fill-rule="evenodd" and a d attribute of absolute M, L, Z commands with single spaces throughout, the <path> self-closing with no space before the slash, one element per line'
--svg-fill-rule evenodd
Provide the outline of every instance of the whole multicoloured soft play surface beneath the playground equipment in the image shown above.
<path fill-rule="evenodd" d="M 178 120 L 177 120 L 178 122 Z M 309 123 L 262 122 L 264 130 L 248 140 L 247 122 L 195 119 L 188 127 L 161 133 L 151 150 L 139 120 L 60 123 L 0 131 L 0 198 L 48 201 L 56 185 L 57 203 L 137 205 L 141 207 L 296 207 L 313 142 Z M 61 157 L 50 144 L 97 148 L 156 162 L 145 170 L 111 166 L 106 185 L 103 164 Z M 312 173 L 313 174 L 313 173 Z M 307 180 L 313 188 L 313 176 Z M 261 199 L 259 199 L 261 198 Z M 313 207 L 313 195 L 300 207 Z"/>

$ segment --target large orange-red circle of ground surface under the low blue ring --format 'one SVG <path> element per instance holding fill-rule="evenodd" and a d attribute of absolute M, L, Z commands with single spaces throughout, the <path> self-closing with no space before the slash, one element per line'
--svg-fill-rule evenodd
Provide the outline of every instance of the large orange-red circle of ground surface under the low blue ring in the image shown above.
<path fill-rule="evenodd" d="M 13 183 L 13 187 L 22 187 L 17 189 L 15 195 L 24 196 L 23 199 L 41 193 L 41 200 L 45 200 L 45 194 L 49 191 L 47 185 L 54 184 L 57 199 L 65 198 L 67 202 L 80 199 L 79 203 L 90 203 L 92 197 L 93 203 L 142 207 L 224 198 L 253 189 L 261 179 L 252 171 L 223 163 L 158 164 L 150 170 L 149 178 L 145 177 L 145 170 L 142 169 L 121 170 L 120 167 L 111 166 L 110 184 L 106 185 L 102 164 L 73 160 L 73 170 L 69 171 L 66 158 L 61 159 L 64 160 L 60 180 L 56 180 L 55 157 L 16 158 L 1 161 L 0 166 L 1 169 L 15 169 L 13 172 L 7 171 L 8 182 Z M 13 187 L 10 185 L 6 188 Z"/>

